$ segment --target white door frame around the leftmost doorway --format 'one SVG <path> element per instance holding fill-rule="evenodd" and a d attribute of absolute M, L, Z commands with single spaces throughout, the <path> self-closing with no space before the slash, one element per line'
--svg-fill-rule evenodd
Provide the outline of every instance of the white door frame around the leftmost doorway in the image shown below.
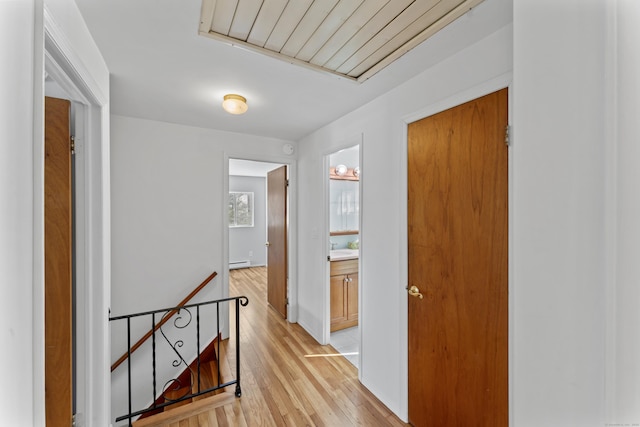
<path fill-rule="evenodd" d="M 78 358 L 76 413 L 83 425 L 106 423 L 111 412 L 109 369 L 110 205 L 108 87 L 96 81 L 64 30 L 44 8 L 44 71 L 36 84 L 34 105 L 34 279 L 33 316 L 44 325 L 44 79 L 51 77 L 69 95 L 75 107 L 76 166 L 76 307 Z M 36 54 L 37 58 L 37 54 Z M 39 62 L 36 59 L 36 62 Z M 40 72 L 40 71 L 37 71 Z M 34 420 L 44 425 L 44 328 L 34 328 Z"/>

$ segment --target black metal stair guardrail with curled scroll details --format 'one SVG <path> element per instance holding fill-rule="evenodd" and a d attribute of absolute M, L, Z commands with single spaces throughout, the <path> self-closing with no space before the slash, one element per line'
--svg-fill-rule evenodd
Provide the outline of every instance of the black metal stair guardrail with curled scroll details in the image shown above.
<path fill-rule="evenodd" d="M 212 339 L 216 339 L 216 345 L 218 354 L 220 354 L 220 338 L 221 338 L 221 323 L 220 323 L 220 309 L 221 305 L 235 304 L 235 342 L 233 342 L 236 351 L 235 357 L 235 379 L 222 378 L 220 372 L 220 363 L 217 364 L 217 372 L 216 375 L 217 381 L 213 387 L 209 387 L 206 389 L 202 388 L 202 366 L 201 366 L 201 333 L 202 333 L 202 321 L 201 317 L 214 317 L 214 320 L 205 321 L 205 325 L 212 326 L 207 329 L 204 334 L 205 338 L 211 341 Z M 242 389 L 240 387 L 240 307 L 246 307 L 249 304 L 249 299 L 246 296 L 238 296 L 238 297 L 230 297 L 223 298 L 214 301 L 207 301 L 196 304 L 187 304 L 179 307 L 172 308 L 163 308 L 153 311 L 147 311 L 142 313 L 129 314 L 124 316 L 116 316 L 110 317 L 109 321 L 115 322 L 119 320 L 126 321 L 127 328 L 127 358 L 125 361 L 127 365 L 127 384 L 128 384 L 128 402 L 127 402 L 127 412 L 126 414 L 120 415 L 115 418 L 115 422 L 118 423 L 123 420 L 128 420 L 128 425 L 132 426 L 133 421 L 140 415 L 146 414 L 149 412 L 157 412 L 163 409 L 166 406 L 182 402 L 185 400 L 192 399 L 193 397 L 200 396 L 206 393 L 211 393 L 216 390 L 224 389 L 228 386 L 235 385 L 235 395 L 236 397 L 240 397 L 242 395 Z M 195 312 L 195 322 L 194 313 Z M 172 315 L 176 315 L 172 322 L 168 322 L 168 317 Z M 204 316 L 202 316 L 204 314 Z M 134 384 L 132 384 L 132 365 L 136 365 L 137 363 L 143 364 L 142 359 L 146 356 L 145 352 L 142 352 L 141 355 L 136 356 L 135 362 L 131 359 L 131 321 L 132 319 L 144 318 L 148 316 L 151 322 L 151 349 L 149 351 L 151 360 L 147 363 L 151 364 L 151 381 L 150 386 L 142 387 L 142 389 L 151 389 L 152 395 L 149 396 L 150 400 L 153 403 L 150 406 L 134 409 L 133 408 L 133 388 Z M 160 316 L 160 322 L 156 325 L 156 316 Z M 232 320 L 233 321 L 233 320 Z M 192 325 L 195 323 L 195 325 Z M 213 323 L 213 325 L 210 325 Z M 192 326 L 191 328 L 189 328 Z M 191 330 L 193 329 L 193 330 Z M 158 340 L 156 335 L 157 332 L 160 332 L 162 339 Z M 176 336 L 172 336 L 172 333 Z M 192 336 L 194 335 L 194 336 Z M 230 337 L 231 338 L 231 337 Z M 185 349 L 188 348 L 190 343 L 195 342 L 195 344 L 191 347 L 193 348 L 193 353 L 195 356 L 192 358 L 187 355 Z M 158 354 L 159 348 L 167 347 L 169 354 L 173 356 L 169 357 L 164 355 L 164 359 L 171 360 L 170 364 L 174 368 L 184 367 L 183 373 L 178 375 L 175 378 L 170 378 L 166 381 L 163 380 L 162 390 L 160 394 L 157 393 L 157 381 L 158 381 Z M 191 363 L 189 362 L 191 360 Z M 137 366 L 137 365 L 136 365 Z M 148 365 L 147 365 L 148 366 Z M 223 383 L 222 380 L 225 382 Z M 139 384 L 136 384 L 139 386 Z M 184 390 L 183 390 L 184 389 Z M 150 391 L 151 391 L 150 390 Z M 169 392 L 183 390 L 184 394 L 180 394 L 179 396 L 175 396 Z M 170 396 L 168 396 L 168 394 Z"/>

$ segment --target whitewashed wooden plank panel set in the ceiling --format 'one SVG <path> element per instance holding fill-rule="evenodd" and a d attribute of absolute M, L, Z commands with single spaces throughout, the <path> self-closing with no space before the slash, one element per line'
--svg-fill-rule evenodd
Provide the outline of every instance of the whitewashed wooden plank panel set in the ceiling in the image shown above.
<path fill-rule="evenodd" d="M 202 0 L 201 35 L 363 82 L 482 0 Z"/>

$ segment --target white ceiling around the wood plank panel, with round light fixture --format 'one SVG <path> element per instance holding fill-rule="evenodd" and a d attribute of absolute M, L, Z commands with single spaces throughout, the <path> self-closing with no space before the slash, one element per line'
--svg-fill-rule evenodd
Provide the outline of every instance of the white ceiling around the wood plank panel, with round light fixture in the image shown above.
<path fill-rule="evenodd" d="M 200 0 L 76 3 L 111 72 L 112 114 L 293 141 L 512 21 L 512 0 L 485 0 L 355 83 L 198 35 Z M 225 113 L 227 93 L 249 111 Z"/>

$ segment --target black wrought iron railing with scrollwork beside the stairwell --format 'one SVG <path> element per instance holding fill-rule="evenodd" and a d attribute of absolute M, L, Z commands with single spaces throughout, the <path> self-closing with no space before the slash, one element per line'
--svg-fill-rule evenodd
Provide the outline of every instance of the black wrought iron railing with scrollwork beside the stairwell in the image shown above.
<path fill-rule="evenodd" d="M 207 340 L 215 340 L 213 345 L 217 346 L 217 354 L 221 354 L 221 311 L 226 313 L 224 309 L 233 303 L 235 303 L 235 342 L 233 343 L 235 347 L 235 378 L 223 378 L 220 361 L 218 360 L 218 363 L 215 364 L 217 372 L 214 373 L 214 385 L 205 388 L 203 386 L 205 375 L 203 364 L 201 363 L 201 344 L 207 342 Z M 140 415 L 158 412 L 166 406 L 233 385 L 235 385 L 236 397 L 240 397 L 242 394 L 240 387 L 240 307 L 245 307 L 247 304 L 249 304 L 247 297 L 238 296 L 110 317 L 110 322 L 126 322 L 127 413 L 118 416 L 115 419 L 116 423 L 128 420 L 129 426 L 131 426 L 133 420 Z M 172 315 L 175 317 L 170 322 L 167 318 Z M 136 352 L 136 358 L 132 360 L 132 322 L 135 321 L 136 324 L 144 323 L 144 318 L 148 318 L 146 321 L 151 326 L 150 348 L 144 352 Z M 160 327 L 157 327 L 157 325 L 160 325 Z M 191 352 L 188 351 L 189 348 Z M 163 367 L 159 366 L 161 363 L 165 365 L 169 363 L 171 366 L 165 366 L 165 369 L 163 369 Z M 225 361 L 225 363 L 227 362 Z M 150 368 L 147 365 L 140 369 L 145 372 L 135 372 L 137 367 L 142 367 L 146 364 L 150 364 Z M 124 375 L 119 372 L 121 370 L 114 371 L 114 374 Z M 180 372 L 180 370 L 182 371 Z M 159 371 L 169 371 L 170 374 L 161 374 Z M 210 372 L 208 374 L 211 375 Z M 148 378 L 149 376 L 151 378 Z M 164 385 L 158 388 L 158 384 L 161 383 Z M 209 384 L 211 384 L 211 381 L 209 381 Z M 177 390 L 184 391 L 176 395 L 175 391 Z M 140 394 L 140 391 L 146 396 L 134 396 L 134 394 Z M 143 407 L 134 408 L 136 406 L 134 397 L 136 403 L 146 402 L 142 404 Z M 151 405 L 148 404 L 150 400 L 153 402 Z"/>

